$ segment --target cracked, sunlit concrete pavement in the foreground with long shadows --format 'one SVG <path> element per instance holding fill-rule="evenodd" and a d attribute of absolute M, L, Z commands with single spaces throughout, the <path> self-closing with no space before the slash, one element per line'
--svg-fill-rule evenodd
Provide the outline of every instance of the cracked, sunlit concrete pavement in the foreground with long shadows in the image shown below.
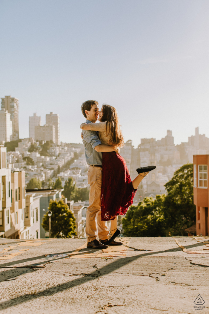
<path fill-rule="evenodd" d="M 130 238 L 126 256 L 71 259 L 86 239 L 0 239 L 0 312 L 209 313 L 207 241 Z"/>

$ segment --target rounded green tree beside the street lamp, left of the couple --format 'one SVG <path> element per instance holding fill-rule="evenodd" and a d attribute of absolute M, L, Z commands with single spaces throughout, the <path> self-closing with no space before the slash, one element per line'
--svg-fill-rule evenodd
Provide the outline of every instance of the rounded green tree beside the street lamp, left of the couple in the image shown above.
<path fill-rule="evenodd" d="M 63 200 L 51 201 L 49 209 L 51 215 L 51 237 L 52 238 L 72 238 L 76 235 L 76 219 L 63 202 Z M 49 231 L 49 216 L 48 212 L 44 215 L 42 227 L 45 231 Z"/>

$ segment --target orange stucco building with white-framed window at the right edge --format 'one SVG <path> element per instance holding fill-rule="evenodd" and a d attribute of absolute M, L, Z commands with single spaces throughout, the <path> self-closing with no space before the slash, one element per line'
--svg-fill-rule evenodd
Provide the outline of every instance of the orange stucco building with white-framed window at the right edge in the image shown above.
<path fill-rule="evenodd" d="M 208 236 L 208 167 L 209 155 L 193 155 L 194 204 L 196 205 L 196 234 Z"/>

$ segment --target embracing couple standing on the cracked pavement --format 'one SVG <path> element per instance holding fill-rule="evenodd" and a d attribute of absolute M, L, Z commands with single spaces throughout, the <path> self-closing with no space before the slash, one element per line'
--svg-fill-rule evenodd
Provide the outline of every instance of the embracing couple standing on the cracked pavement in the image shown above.
<path fill-rule="evenodd" d="M 120 234 L 118 215 L 126 214 L 139 183 L 156 167 L 138 168 L 138 176 L 131 181 L 126 162 L 120 155 L 124 141 L 116 109 L 103 104 L 99 111 L 96 100 L 87 100 L 82 104 L 81 111 L 86 118 L 81 129 L 90 185 L 86 212 L 87 247 L 104 249 L 109 245 L 122 245 L 115 241 Z M 97 120 L 100 123 L 95 123 Z M 108 220 L 111 222 L 110 232 L 107 229 Z"/>

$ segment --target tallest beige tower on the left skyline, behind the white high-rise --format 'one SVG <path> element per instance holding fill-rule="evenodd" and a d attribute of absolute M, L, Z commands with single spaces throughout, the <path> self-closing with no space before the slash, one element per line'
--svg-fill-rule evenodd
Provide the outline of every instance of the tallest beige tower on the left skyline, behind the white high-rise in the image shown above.
<path fill-rule="evenodd" d="M 11 114 L 10 119 L 12 121 L 12 140 L 19 139 L 19 100 L 15 97 L 5 96 L 2 98 L 2 109 L 8 111 Z"/>

